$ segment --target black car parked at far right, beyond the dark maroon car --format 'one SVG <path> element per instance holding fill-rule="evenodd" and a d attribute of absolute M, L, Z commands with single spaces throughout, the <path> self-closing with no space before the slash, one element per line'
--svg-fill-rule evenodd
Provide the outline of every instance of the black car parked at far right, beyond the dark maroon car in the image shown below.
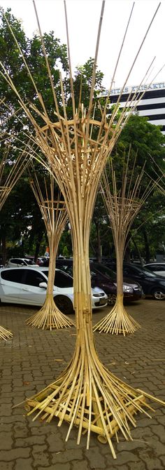
<path fill-rule="evenodd" d="M 156 300 L 165 299 L 165 279 L 163 276 L 157 276 L 145 267 L 129 263 L 124 263 L 123 274 L 141 283 L 145 295 L 152 295 Z"/>

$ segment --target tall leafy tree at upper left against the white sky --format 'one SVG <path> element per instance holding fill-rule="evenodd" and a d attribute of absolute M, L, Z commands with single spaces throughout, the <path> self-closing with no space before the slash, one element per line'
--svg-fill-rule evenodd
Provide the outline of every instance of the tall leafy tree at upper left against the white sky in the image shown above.
<path fill-rule="evenodd" d="M 38 34 L 34 34 L 31 39 L 27 38 L 24 30 L 22 29 L 21 21 L 17 20 L 17 18 L 12 15 L 10 8 L 7 9 L 5 14 L 11 28 L 13 29 L 17 43 L 20 46 L 22 53 L 24 54 L 24 59 L 26 60 L 27 66 L 29 67 L 29 72 L 34 78 L 36 87 L 42 94 L 43 100 L 46 102 L 47 109 L 50 111 L 50 116 L 52 114 L 55 119 L 55 107 L 52 98 L 52 90 L 46 69 L 41 40 Z M 48 54 L 53 83 L 60 104 L 61 94 L 59 86 L 59 63 L 61 64 L 64 72 L 67 74 L 68 60 L 66 45 L 60 43 L 60 40 L 55 37 L 54 32 L 43 34 L 43 40 Z M 15 43 L 13 35 L 6 23 L 6 19 L 1 13 L 0 60 L 5 69 L 10 74 L 10 78 L 13 79 L 18 92 L 22 96 L 22 99 L 27 100 L 27 102 L 32 102 L 35 100 L 36 106 L 38 107 L 40 105 L 38 102 L 36 89 L 31 82 L 29 74 L 27 74 L 27 68 L 22 60 L 19 46 L 17 46 Z M 4 97 L 6 98 L 5 104 L 11 106 L 12 109 L 17 109 L 19 107 L 15 93 L 13 93 L 13 91 L 7 85 L 6 81 L 1 79 L 0 98 Z M 2 109 L 5 114 L 7 112 L 6 107 L 4 106 Z"/>

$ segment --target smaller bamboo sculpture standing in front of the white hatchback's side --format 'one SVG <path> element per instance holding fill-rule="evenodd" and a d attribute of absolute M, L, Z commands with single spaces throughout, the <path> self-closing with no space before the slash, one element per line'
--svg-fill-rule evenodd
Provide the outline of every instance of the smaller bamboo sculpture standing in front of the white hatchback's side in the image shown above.
<path fill-rule="evenodd" d="M 50 263 L 48 271 L 48 287 L 45 302 L 43 304 L 43 307 L 39 311 L 37 311 L 36 314 L 28 318 L 26 323 L 27 325 L 31 325 L 33 327 L 43 328 L 43 330 L 44 328 L 52 330 L 52 328 L 59 329 L 67 328 L 68 326 L 71 327 L 71 325 L 75 326 L 74 321 L 72 321 L 70 318 L 67 318 L 66 315 L 62 314 L 62 312 L 59 311 L 53 298 L 53 286 L 55 281 L 55 260 L 57 255 L 57 248 L 59 244 L 59 239 L 62 235 L 62 231 L 67 220 L 65 203 L 64 201 L 60 200 L 59 197 L 57 201 L 54 200 L 55 180 L 52 175 L 50 175 L 49 186 L 45 180 L 45 196 L 47 199 L 44 200 L 44 195 L 41 190 L 41 186 L 38 182 L 38 177 L 34 171 L 34 166 L 31 165 L 31 169 L 33 170 L 33 178 L 30 178 L 29 182 L 31 185 L 31 189 L 34 192 L 34 196 L 36 196 L 36 200 L 41 209 L 41 214 L 45 222 L 45 227 L 48 235 L 48 243 L 50 247 Z M 29 173 L 31 173 L 31 169 L 29 168 Z"/>

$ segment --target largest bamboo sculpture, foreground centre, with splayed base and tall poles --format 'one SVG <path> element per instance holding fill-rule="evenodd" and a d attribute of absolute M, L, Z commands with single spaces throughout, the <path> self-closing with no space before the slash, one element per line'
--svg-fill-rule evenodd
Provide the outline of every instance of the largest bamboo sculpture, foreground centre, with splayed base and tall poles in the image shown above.
<path fill-rule="evenodd" d="M 66 4 L 64 4 L 64 6 L 66 13 Z M 40 110 L 33 104 L 31 107 L 28 107 L 28 105 L 22 101 L 22 98 L 15 89 L 7 72 L 3 74 L 3 78 L 6 79 L 8 84 L 15 90 L 24 112 L 27 114 L 36 130 L 36 137 L 34 137 L 36 144 L 40 147 L 41 152 L 43 152 L 45 156 L 42 163 L 51 169 L 64 196 L 66 209 L 71 222 L 73 239 L 73 276 L 77 328 L 76 349 L 71 362 L 62 375 L 34 397 L 27 399 L 27 406 L 31 408 L 28 414 L 30 415 L 36 412 L 34 419 L 40 416 L 41 419 L 46 419 L 48 422 L 50 422 L 53 417 L 58 417 L 59 426 L 64 420 L 68 422 L 69 431 L 66 436 L 66 441 L 69 438 L 73 425 L 75 425 L 78 427 L 78 443 L 80 443 L 81 435 L 87 433 L 87 448 L 89 448 L 91 431 L 94 431 L 98 435 L 99 441 L 108 441 L 113 457 L 115 458 L 116 455 L 112 437 L 115 436 L 118 440 L 118 431 L 121 431 L 124 438 L 129 440 L 131 438 L 130 427 L 136 426 L 137 412 L 145 412 L 148 416 L 148 409 L 151 410 L 152 408 L 145 402 L 145 395 L 147 394 L 129 387 L 129 385 L 115 377 L 115 375 L 104 367 L 96 353 L 92 332 L 91 283 L 88 253 L 90 222 L 92 220 L 94 201 L 101 173 L 115 145 L 117 137 L 120 135 L 122 126 L 127 119 L 129 119 L 130 113 L 128 109 L 124 108 L 120 119 L 117 121 L 117 125 L 114 126 L 113 123 L 118 109 L 117 103 L 117 107 L 115 107 L 115 111 L 110 117 L 110 121 L 107 123 L 106 102 L 105 107 L 101 111 L 101 119 L 96 121 L 93 117 L 94 81 L 103 7 L 104 2 L 101 8 L 92 86 L 87 112 L 81 104 L 79 104 L 78 109 L 76 109 L 70 51 L 68 47 L 73 119 L 67 118 L 62 81 L 61 88 L 64 114 L 60 114 L 39 22 L 38 29 L 41 34 L 43 53 L 45 55 L 45 62 L 48 67 L 48 74 L 52 86 L 52 94 L 55 100 L 56 121 L 50 121 L 45 104 L 37 89 L 36 93 L 38 94 L 38 100 L 43 109 L 42 112 L 41 107 Z M 38 20 L 37 13 L 36 17 Z M 69 46 L 67 18 L 66 31 Z M 17 47 L 20 47 L 18 43 Z M 139 51 L 140 49 L 141 48 L 139 48 Z M 136 58 L 137 56 L 138 54 Z M 31 76 L 28 67 L 27 69 L 29 76 Z M 31 80 L 34 83 L 32 77 Z M 34 86 L 36 88 L 35 83 Z M 41 118 L 43 119 L 43 126 L 37 122 L 37 115 L 40 118 L 40 123 Z M 38 157 L 36 156 L 36 158 Z M 156 398 L 151 396 L 150 398 L 162 403 Z"/>

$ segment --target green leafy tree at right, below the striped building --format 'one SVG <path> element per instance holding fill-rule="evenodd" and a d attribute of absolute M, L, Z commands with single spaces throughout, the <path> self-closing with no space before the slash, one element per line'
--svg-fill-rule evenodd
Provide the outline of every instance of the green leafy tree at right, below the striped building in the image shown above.
<path fill-rule="evenodd" d="M 150 124 L 148 118 L 138 116 L 137 114 L 132 115 L 127 125 L 122 130 L 113 152 L 113 164 L 115 171 L 118 172 L 119 179 L 121 175 L 121 164 L 123 164 L 129 152 L 130 145 L 130 161 L 134 161 L 137 154 L 135 166 L 137 175 L 139 168 L 145 163 L 145 175 L 141 184 L 143 187 L 146 187 L 149 176 L 152 177 L 153 180 L 157 180 L 157 175 L 160 174 L 159 168 L 161 168 L 163 172 L 165 170 L 165 136 L 161 132 L 161 127 Z M 159 166 L 159 168 L 157 166 Z M 145 206 L 141 209 L 134 221 L 132 227 L 134 231 L 132 232 L 131 230 L 131 234 L 134 233 L 134 244 L 137 248 L 141 248 L 141 254 L 146 261 L 150 260 L 152 253 L 155 251 L 152 245 L 152 239 L 157 241 L 156 227 L 157 224 L 159 225 L 161 217 L 164 214 L 164 207 L 164 196 L 161 196 L 155 190 L 150 195 L 148 201 L 145 202 Z"/>

